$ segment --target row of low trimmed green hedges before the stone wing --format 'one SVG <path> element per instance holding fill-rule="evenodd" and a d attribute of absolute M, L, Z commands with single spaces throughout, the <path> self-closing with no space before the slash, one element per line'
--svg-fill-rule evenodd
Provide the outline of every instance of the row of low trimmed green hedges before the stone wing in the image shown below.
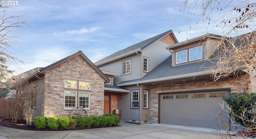
<path fill-rule="evenodd" d="M 103 116 L 78 116 L 78 117 L 41 117 L 34 118 L 36 128 L 66 129 L 68 127 L 98 127 L 106 125 L 117 125 L 120 123 L 120 117 L 114 114 L 105 114 Z"/>

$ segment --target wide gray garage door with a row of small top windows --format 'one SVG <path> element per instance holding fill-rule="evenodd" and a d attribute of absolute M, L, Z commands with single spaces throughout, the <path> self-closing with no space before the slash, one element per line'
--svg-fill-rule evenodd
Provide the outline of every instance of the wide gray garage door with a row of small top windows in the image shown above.
<path fill-rule="evenodd" d="M 212 115 L 221 111 L 219 103 L 226 91 L 170 93 L 160 95 L 160 123 L 193 127 L 220 127 Z M 228 119 L 228 117 L 226 117 Z"/>

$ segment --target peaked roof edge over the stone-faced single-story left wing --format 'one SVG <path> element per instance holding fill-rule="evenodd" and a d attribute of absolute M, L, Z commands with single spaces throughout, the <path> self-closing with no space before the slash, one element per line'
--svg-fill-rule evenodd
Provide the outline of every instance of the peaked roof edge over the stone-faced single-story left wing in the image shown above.
<path fill-rule="evenodd" d="M 57 62 L 54 62 L 53 64 L 50 64 L 46 67 L 42 67 L 42 68 L 37 68 L 36 71 L 34 71 L 34 73 L 31 73 L 30 75 L 28 75 L 27 77 L 25 77 L 24 79 L 22 79 L 22 81 L 24 80 L 28 80 L 28 79 L 31 79 L 32 77 L 35 77 L 35 76 L 40 76 L 41 74 L 44 73 L 44 71 L 47 71 L 47 70 L 50 70 L 51 68 L 54 68 L 56 66 L 58 66 L 59 64 L 62 64 L 76 56 L 81 56 L 84 60 L 86 60 L 86 62 L 92 66 L 92 68 L 94 68 L 94 70 L 96 70 L 103 78 L 106 82 L 109 82 L 110 79 L 108 79 L 108 77 L 81 51 L 79 50 L 78 52 L 70 55 L 70 56 L 67 56 L 66 58 L 62 58 L 61 60 L 57 61 Z"/>

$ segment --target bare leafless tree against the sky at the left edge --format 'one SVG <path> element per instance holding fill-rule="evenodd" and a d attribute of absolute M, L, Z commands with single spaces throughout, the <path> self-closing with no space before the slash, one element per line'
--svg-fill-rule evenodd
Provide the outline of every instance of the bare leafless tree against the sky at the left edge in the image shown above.
<path fill-rule="evenodd" d="M 6 0 L 0 0 L 0 2 Z M 8 70 L 6 62 L 12 62 L 17 67 L 19 63 L 24 62 L 14 56 L 15 45 L 18 44 L 17 30 L 24 27 L 29 27 L 27 20 L 24 15 L 9 15 L 8 13 L 12 10 L 12 7 L 0 4 L 0 89 L 6 87 L 4 83 L 8 77 L 14 73 L 13 70 Z M 18 33 L 20 34 L 20 33 Z"/>

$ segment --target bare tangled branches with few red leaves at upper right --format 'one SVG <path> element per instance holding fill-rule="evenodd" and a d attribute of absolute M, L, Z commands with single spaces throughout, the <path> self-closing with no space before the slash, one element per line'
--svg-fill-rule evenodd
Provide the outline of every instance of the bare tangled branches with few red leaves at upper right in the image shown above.
<path fill-rule="evenodd" d="M 218 48 L 211 67 L 214 80 L 246 73 L 246 77 L 255 78 L 256 64 L 256 2 L 252 0 L 181 0 L 181 12 L 188 15 L 201 13 L 207 26 L 222 30 L 218 39 Z M 199 24 L 199 23 L 198 23 Z M 241 34 L 241 32 L 248 32 Z M 241 72 L 243 71 L 243 72 Z"/>

